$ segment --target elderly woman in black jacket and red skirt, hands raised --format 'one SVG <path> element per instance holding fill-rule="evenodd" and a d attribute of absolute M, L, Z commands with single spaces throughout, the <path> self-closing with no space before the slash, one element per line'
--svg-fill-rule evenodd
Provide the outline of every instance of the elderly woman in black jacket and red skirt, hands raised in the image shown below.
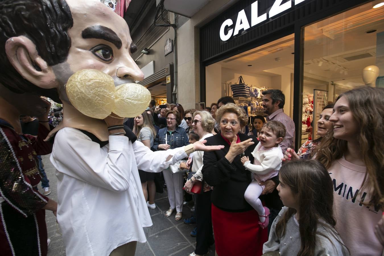
<path fill-rule="evenodd" d="M 216 253 L 225 255 L 261 255 L 267 230 L 258 226 L 258 213 L 244 199 L 252 180 L 251 173 L 241 163 L 255 143 L 239 130 L 247 125 L 244 110 L 228 103 L 216 112 L 220 134 L 207 138 L 207 145 L 224 145 L 224 149 L 204 153 L 202 173 L 205 182 L 213 186 L 212 224 Z"/>

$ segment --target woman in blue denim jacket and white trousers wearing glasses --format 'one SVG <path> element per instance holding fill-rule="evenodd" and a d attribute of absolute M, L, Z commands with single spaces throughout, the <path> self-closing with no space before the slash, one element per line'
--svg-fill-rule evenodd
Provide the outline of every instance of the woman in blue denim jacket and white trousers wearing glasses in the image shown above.
<path fill-rule="evenodd" d="M 177 111 L 168 111 L 166 114 L 167 127 L 162 128 L 156 135 L 153 148 L 156 150 L 174 149 L 188 145 L 188 136 L 185 129 L 180 127 L 181 118 Z M 178 163 L 176 163 L 178 164 Z M 169 169 L 163 170 L 164 180 L 167 183 L 168 200 L 170 204 L 166 216 L 172 215 L 176 208 L 175 220 L 180 220 L 183 210 L 183 173 L 172 173 Z"/>

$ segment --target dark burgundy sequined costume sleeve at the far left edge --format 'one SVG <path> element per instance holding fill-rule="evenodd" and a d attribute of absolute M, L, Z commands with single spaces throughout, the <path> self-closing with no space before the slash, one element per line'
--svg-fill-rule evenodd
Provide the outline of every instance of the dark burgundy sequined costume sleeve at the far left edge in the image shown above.
<path fill-rule="evenodd" d="M 35 137 L 31 139 L 34 139 L 34 144 L 38 142 Z M 48 202 L 47 197 L 33 188 L 41 177 L 36 172 L 33 156 L 36 153 L 29 142 L 13 129 L 0 126 L 0 196 L 25 217 Z"/>

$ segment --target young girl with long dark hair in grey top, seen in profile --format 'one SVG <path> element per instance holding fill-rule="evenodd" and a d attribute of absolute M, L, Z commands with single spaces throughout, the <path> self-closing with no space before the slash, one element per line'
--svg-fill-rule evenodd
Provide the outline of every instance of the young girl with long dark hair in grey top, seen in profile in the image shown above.
<path fill-rule="evenodd" d="M 285 256 L 349 255 L 335 230 L 333 184 L 316 160 L 283 165 L 277 187 L 283 207 L 273 221 L 263 253 Z"/>

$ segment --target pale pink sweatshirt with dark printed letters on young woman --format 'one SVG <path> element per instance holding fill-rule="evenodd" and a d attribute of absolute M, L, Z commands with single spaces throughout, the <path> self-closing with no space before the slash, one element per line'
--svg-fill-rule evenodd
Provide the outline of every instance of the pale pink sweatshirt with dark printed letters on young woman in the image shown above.
<path fill-rule="evenodd" d="M 361 201 L 369 202 L 369 188 L 364 188 L 356 200 L 353 199 L 360 191 L 366 167 L 338 159 L 328 171 L 333 180 L 336 230 L 351 256 L 381 256 L 383 246 L 374 234 L 374 227 L 381 219 L 382 211 L 361 204 Z"/>

